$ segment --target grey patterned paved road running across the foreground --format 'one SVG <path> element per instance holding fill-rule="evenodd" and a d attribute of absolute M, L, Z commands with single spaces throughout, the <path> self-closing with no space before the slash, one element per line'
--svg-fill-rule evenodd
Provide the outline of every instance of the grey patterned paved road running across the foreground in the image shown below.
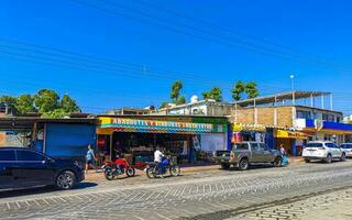
<path fill-rule="evenodd" d="M 0 194 L 1 219 L 287 219 L 304 209 L 285 206 L 349 190 L 352 161 L 310 163 L 246 172 L 216 170 L 165 179 L 145 176 L 84 183 L 70 191 L 50 188 Z M 283 206 L 283 207 L 280 207 Z M 277 215 L 275 207 L 283 212 Z M 294 206 L 293 206 L 294 207 Z M 267 211 L 268 210 L 268 211 Z M 254 213 L 254 215 L 253 215 Z"/>

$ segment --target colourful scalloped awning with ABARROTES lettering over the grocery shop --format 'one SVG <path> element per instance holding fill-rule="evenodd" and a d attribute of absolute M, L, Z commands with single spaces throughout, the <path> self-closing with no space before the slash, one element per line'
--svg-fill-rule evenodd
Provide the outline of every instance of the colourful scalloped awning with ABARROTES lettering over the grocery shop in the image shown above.
<path fill-rule="evenodd" d="M 113 132 L 141 132 L 141 133 L 180 133 L 198 134 L 220 132 L 208 123 L 185 123 L 174 121 L 154 121 L 125 118 L 99 118 L 98 134 L 112 134 Z M 223 131 L 222 131 L 223 132 Z"/>

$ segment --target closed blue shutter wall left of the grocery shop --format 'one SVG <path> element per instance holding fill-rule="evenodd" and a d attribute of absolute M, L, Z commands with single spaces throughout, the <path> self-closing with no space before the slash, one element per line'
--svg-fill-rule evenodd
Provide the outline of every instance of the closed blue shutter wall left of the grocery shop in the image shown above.
<path fill-rule="evenodd" d="M 84 160 L 88 144 L 96 145 L 95 124 L 46 124 L 45 153 L 50 156 Z"/>

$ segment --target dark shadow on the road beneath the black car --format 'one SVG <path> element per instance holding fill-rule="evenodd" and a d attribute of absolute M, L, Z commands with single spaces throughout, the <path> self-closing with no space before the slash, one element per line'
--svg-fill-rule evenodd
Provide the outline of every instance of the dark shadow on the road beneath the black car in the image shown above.
<path fill-rule="evenodd" d="M 82 182 L 69 190 L 91 188 L 91 187 L 96 187 L 96 186 L 98 186 L 98 184 L 96 184 L 96 183 Z M 61 191 L 61 190 L 55 188 L 54 186 L 42 186 L 42 187 L 25 188 L 25 189 L 14 189 L 14 190 L 0 191 L 0 198 L 31 196 L 31 195 L 47 194 L 47 193 L 53 193 L 53 191 Z"/>

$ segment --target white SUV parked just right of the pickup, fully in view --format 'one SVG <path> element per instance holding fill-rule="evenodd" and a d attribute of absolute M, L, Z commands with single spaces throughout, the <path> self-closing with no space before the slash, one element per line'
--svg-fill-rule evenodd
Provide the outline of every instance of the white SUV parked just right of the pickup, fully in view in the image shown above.
<path fill-rule="evenodd" d="M 332 160 L 345 161 L 346 153 L 333 142 L 309 142 L 302 152 L 302 157 L 308 163 L 310 160 L 321 160 L 331 163 Z"/>

